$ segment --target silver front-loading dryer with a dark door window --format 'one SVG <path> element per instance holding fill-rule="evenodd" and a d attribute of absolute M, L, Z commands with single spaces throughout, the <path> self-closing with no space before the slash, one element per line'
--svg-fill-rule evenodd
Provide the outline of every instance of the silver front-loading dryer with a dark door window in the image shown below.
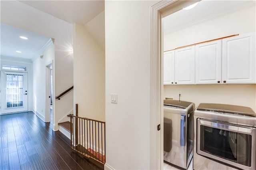
<path fill-rule="evenodd" d="M 201 103 L 194 111 L 194 170 L 256 169 L 256 113 Z"/>

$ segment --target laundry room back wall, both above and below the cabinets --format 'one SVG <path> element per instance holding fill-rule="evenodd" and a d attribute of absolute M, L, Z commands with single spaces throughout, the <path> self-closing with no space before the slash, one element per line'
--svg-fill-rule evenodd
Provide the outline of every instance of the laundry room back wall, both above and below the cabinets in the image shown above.
<path fill-rule="evenodd" d="M 164 50 L 232 34 L 256 31 L 255 6 L 226 14 L 164 36 Z M 181 36 L 182 35 L 182 36 Z M 224 103 L 256 111 L 256 85 L 164 85 L 164 97 L 199 103 Z"/>

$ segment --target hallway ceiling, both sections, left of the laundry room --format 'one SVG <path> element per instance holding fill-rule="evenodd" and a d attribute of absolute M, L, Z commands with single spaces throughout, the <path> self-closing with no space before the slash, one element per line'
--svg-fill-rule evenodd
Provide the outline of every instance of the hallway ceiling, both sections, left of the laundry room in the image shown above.
<path fill-rule="evenodd" d="M 0 2 L 4 8 L 4 1 Z M 21 0 L 17 3 L 26 4 L 46 14 L 64 20 L 70 24 L 85 25 L 104 11 L 104 0 Z M 50 40 L 39 34 L 21 30 L 6 24 L 0 24 L 0 55 L 5 57 L 17 57 L 33 61 L 36 54 Z M 19 36 L 26 36 L 23 40 Z M 16 51 L 22 51 L 17 53 Z"/>

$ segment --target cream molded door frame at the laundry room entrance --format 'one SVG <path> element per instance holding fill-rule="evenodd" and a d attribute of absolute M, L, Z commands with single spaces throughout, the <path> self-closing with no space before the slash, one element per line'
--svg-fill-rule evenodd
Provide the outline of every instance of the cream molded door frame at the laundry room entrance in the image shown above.
<path fill-rule="evenodd" d="M 163 169 L 164 85 L 162 18 L 200 0 L 160 1 L 151 7 L 150 169 Z M 157 130 L 160 125 L 162 130 Z"/>

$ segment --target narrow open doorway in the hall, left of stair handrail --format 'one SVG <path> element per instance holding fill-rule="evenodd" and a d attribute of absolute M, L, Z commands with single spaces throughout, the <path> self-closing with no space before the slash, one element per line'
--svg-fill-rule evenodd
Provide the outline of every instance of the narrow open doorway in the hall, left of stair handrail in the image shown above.
<path fill-rule="evenodd" d="M 53 123 L 53 69 L 52 62 L 46 65 L 46 106 L 45 106 L 45 120 Z"/>

